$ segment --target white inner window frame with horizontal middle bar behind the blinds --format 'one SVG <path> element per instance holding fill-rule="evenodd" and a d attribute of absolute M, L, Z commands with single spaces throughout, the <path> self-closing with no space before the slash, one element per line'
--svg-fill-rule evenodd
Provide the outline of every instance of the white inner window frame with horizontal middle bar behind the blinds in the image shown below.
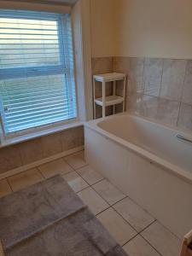
<path fill-rule="evenodd" d="M 15 16 L 16 15 L 14 15 L 14 17 Z M 18 14 L 18 16 L 20 16 L 20 15 Z M 49 18 L 49 20 L 58 20 L 59 26 L 63 26 L 62 17 L 61 16 L 60 16 L 60 19 L 58 19 L 59 15 L 57 15 L 57 14 L 55 14 L 55 15 L 52 14 L 51 16 L 53 17 L 52 19 L 50 19 L 50 16 L 46 17 L 46 19 Z M 26 18 L 29 18 L 29 16 L 27 15 Z M 34 16 L 34 18 L 35 18 L 35 16 Z M 39 17 L 36 17 L 36 18 L 39 19 Z M 57 19 L 55 19 L 55 18 L 57 18 Z M 44 20 L 44 19 L 42 19 L 42 20 Z M 73 26 L 72 25 L 72 17 L 71 17 L 71 26 Z M 63 29 L 63 27 L 61 29 Z M 63 38 L 62 38 L 61 33 L 59 33 L 59 37 L 60 37 L 60 43 L 63 44 Z M 72 40 L 73 40 L 73 33 L 72 33 Z M 61 51 L 62 51 L 62 54 L 60 54 L 60 56 L 64 55 L 64 49 L 62 49 Z M 73 45 L 73 63 L 75 63 L 74 45 Z M 11 71 L 10 71 L 10 69 L 11 69 Z M 24 69 L 25 69 L 25 72 L 26 72 L 26 67 L 8 68 L 8 70 L 4 70 L 3 69 L 3 70 L 0 70 L 0 76 L 1 76 L 2 79 L 12 78 L 13 77 L 13 72 L 15 72 L 15 71 L 18 72 L 18 70 L 19 70 L 18 77 L 21 77 L 20 73 L 22 73 L 22 70 L 24 70 Z M 64 60 L 62 61 L 62 64 L 59 65 L 58 67 L 55 67 L 55 66 L 28 67 L 27 69 L 28 69 L 28 71 L 30 71 L 30 74 L 32 76 L 37 76 L 37 77 L 38 77 L 39 73 L 40 74 L 44 73 L 44 74 L 48 74 L 48 75 L 50 75 L 51 73 L 52 74 L 56 74 L 56 73 L 58 73 L 58 74 L 67 74 L 67 68 L 65 67 Z M 74 80 L 76 80 L 75 79 L 75 75 L 74 75 Z M 79 100 L 78 100 L 79 97 L 78 97 L 77 83 L 75 83 L 75 90 L 76 90 L 77 117 L 73 118 L 73 119 L 61 120 L 61 121 L 58 121 L 58 122 L 53 122 L 53 123 L 46 124 L 46 125 L 39 125 L 39 126 L 36 126 L 36 127 L 32 127 L 32 128 L 28 128 L 28 129 L 22 130 L 22 131 L 15 131 L 15 132 L 11 132 L 9 134 L 6 134 L 5 131 L 3 130 L 2 113 L 0 113 L 0 139 L 1 139 L 1 142 L 9 140 L 10 138 L 14 138 L 14 137 L 30 135 L 30 134 L 32 134 L 32 133 L 34 133 L 36 131 L 37 132 L 38 131 L 45 131 L 45 133 L 46 133 L 46 130 L 49 130 L 49 128 L 51 128 L 51 127 L 54 129 L 55 127 L 60 127 L 60 126 L 63 126 L 63 125 L 68 125 L 70 123 L 79 122 L 79 108 L 78 108 L 79 107 Z"/>

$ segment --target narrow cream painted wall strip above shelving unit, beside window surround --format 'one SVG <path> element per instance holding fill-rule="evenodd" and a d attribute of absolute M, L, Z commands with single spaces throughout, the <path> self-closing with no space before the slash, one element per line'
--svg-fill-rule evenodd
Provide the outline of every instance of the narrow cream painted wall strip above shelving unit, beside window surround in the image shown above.
<path fill-rule="evenodd" d="M 114 55 L 114 0 L 90 0 L 92 57 Z"/>

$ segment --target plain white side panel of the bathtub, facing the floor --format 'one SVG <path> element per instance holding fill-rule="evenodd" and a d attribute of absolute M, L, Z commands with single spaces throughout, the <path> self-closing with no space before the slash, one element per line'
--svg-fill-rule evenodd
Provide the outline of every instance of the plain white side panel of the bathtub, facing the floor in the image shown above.
<path fill-rule="evenodd" d="M 85 157 L 176 236 L 192 228 L 192 185 L 85 127 Z"/>

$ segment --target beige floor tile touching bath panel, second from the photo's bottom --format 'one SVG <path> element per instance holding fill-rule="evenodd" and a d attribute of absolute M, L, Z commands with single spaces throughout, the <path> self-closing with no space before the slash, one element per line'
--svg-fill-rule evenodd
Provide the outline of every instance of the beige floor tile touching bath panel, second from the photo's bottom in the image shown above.
<path fill-rule="evenodd" d="M 146 228 L 148 224 L 154 222 L 154 218 L 134 201 L 131 201 L 130 198 L 119 201 L 113 208 L 138 232 Z"/>

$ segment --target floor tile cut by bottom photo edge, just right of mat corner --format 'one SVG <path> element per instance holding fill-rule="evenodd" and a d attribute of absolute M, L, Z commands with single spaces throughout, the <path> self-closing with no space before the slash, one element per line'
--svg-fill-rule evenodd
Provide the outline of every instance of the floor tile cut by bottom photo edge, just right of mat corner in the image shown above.
<path fill-rule="evenodd" d="M 123 247 L 129 256 L 160 256 L 142 236 L 136 236 Z"/>

